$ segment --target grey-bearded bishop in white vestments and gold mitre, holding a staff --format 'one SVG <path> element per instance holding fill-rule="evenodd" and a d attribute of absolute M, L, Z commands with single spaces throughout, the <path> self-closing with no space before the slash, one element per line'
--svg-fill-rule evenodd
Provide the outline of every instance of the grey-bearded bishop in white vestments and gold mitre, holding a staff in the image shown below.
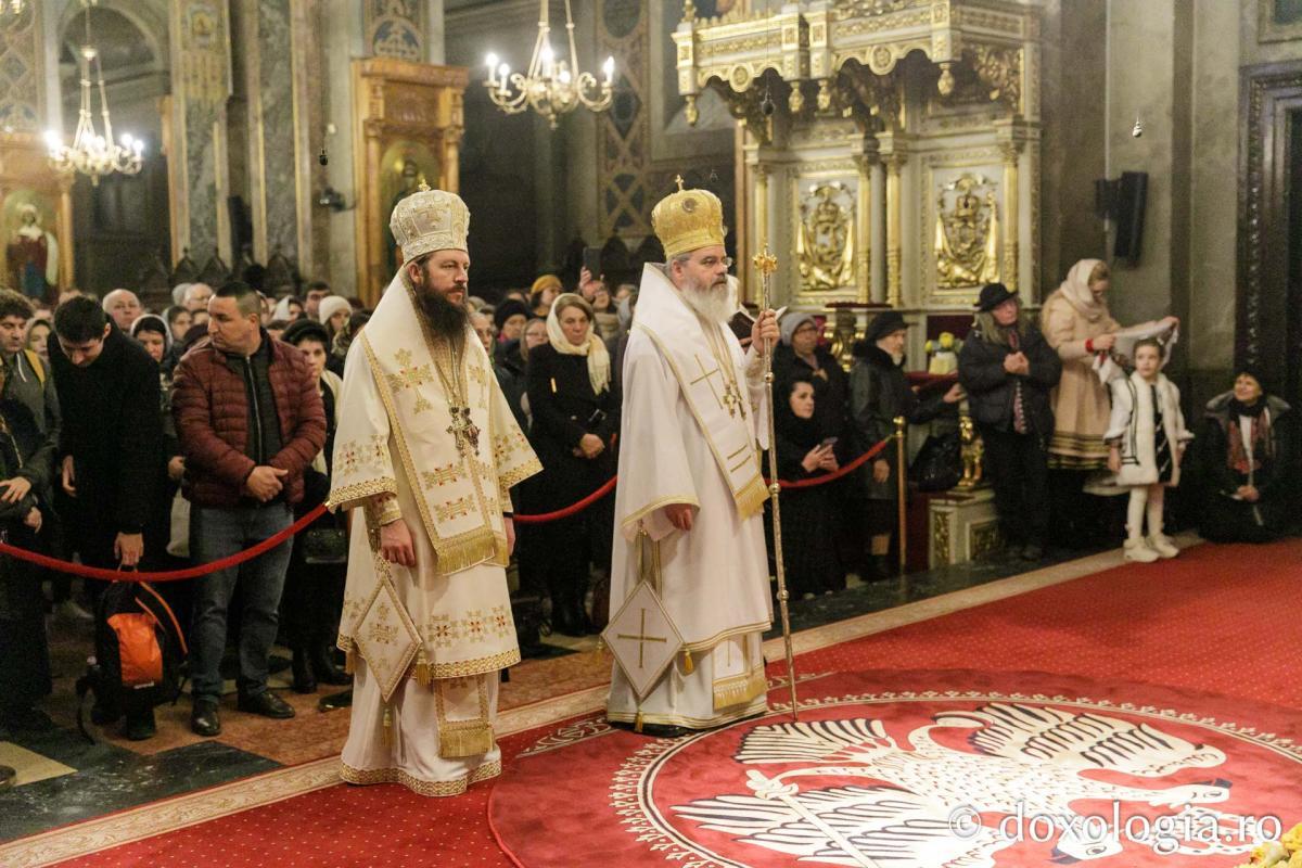
<path fill-rule="evenodd" d="M 672 735 L 767 708 L 769 409 L 756 347 L 779 331 L 766 311 L 742 353 L 727 325 L 737 301 L 717 197 L 680 189 L 651 221 L 667 263 L 642 273 L 625 351 L 611 610 L 650 582 L 684 649 L 642 696 L 616 664 L 607 717 Z"/>

